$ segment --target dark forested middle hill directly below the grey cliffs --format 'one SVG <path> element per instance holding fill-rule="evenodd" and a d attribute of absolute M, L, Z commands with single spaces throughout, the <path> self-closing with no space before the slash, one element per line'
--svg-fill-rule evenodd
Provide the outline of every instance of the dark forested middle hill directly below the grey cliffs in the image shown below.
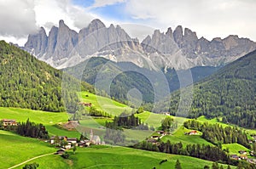
<path fill-rule="evenodd" d="M 174 69 L 148 70 L 131 62 L 115 63 L 95 57 L 65 71 L 95 85 L 97 89 L 108 91 L 109 88 L 109 96 L 127 104 L 127 93 L 133 88 L 137 88 L 142 93 L 144 103 L 154 103 L 154 99 L 160 100 L 177 90 L 180 87 L 179 78 L 183 74 L 188 74 L 190 71 L 193 82 L 198 82 L 218 69 L 219 67 L 199 66 L 190 70 L 179 70 L 180 76 L 177 76 L 177 71 Z"/>

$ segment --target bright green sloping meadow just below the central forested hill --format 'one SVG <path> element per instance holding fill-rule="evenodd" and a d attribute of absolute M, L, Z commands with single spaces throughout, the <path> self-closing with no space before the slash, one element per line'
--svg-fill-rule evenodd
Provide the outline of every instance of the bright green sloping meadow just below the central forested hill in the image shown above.
<path fill-rule="evenodd" d="M 125 110 L 127 110 L 128 112 L 131 112 L 132 110 L 131 107 L 125 104 L 120 104 L 119 102 L 114 101 L 113 99 L 97 96 L 93 93 L 81 92 L 79 93 L 79 95 L 83 102 L 91 103 L 92 106 L 96 107 L 96 109 L 104 110 L 111 115 L 120 115 Z M 86 97 L 85 95 L 88 95 L 88 97 Z"/>

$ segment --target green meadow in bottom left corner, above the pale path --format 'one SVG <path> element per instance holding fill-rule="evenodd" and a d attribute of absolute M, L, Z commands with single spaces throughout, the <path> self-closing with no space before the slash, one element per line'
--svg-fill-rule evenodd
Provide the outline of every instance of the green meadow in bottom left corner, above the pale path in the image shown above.
<path fill-rule="evenodd" d="M 0 168 L 15 166 L 32 157 L 55 152 L 49 143 L 3 130 L 0 130 L 0 145 Z"/>

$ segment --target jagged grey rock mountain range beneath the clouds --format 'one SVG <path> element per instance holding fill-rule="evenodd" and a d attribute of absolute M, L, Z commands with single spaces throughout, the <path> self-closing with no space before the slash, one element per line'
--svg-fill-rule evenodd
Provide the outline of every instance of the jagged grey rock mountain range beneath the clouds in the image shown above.
<path fill-rule="evenodd" d="M 143 42 L 131 38 L 119 25 L 106 27 L 101 20 L 73 31 L 60 20 L 47 37 L 44 28 L 29 35 L 25 49 L 38 59 L 56 68 L 77 65 L 90 57 L 101 56 L 116 62 L 133 62 L 141 67 L 174 67 L 188 69 L 198 65 L 222 65 L 234 61 L 256 49 L 247 38 L 229 36 L 208 41 L 181 25 L 166 33 L 154 31 Z"/>

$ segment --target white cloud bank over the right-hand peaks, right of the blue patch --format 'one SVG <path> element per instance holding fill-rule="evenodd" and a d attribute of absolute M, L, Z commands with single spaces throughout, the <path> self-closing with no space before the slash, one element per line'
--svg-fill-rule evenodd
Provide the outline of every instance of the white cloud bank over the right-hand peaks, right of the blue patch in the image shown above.
<path fill-rule="evenodd" d="M 177 25 L 196 31 L 199 37 L 227 37 L 237 34 L 256 40 L 256 1 L 248 0 L 130 0 L 126 11 L 135 20 L 162 31 Z"/>

